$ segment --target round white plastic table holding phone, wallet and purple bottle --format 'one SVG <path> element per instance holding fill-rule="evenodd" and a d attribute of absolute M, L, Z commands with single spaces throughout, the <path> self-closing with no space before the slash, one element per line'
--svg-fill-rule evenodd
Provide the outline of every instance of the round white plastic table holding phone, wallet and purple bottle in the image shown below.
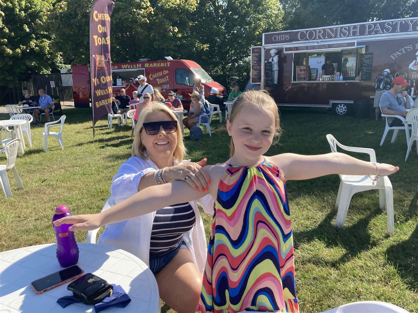
<path fill-rule="evenodd" d="M 92 243 L 78 243 L 78 265 L 108 283 L 121 285 L 131 298 L 125 308 L 106 312 L 160 312 L 160 296 L 153 273 L 138 257 L 124 250 Z M 0 312 L 94 312 L 93 305 L 74 303 L 66 308 L 56 303 L 72 295 L 66 283 L 36 294 L 33 280 L 62 270 L 56 259 L 56 244 L 37 245 L 0 253 Z"/>

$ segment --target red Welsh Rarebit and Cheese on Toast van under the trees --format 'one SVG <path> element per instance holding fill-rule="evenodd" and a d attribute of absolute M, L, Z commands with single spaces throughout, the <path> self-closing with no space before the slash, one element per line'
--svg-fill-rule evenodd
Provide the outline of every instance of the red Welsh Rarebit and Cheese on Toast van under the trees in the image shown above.
<path fill-rule="evenodd" d="M 85 65 L 72 66 L 73 96 L 75 107 L 89 107 L 90 74 Z M 227 99 L 227 90 L 214 81 L 206 71 L 194 61 L 163 60 L 149 61 L 141 59 L 138 62 L 112 63 L 112 91 L 116 95 L 121 88 L 125 88 L 130 78 L 144 75 L 153 88 L 158 88 L 164 98 L 168 98 L 168 91 L 177 89 L 177 96 L 183 96 L 181 102 L 185 109 L 189 109 L 190 96 L 193 90 L 193 78 L 199 76 L 205 88 L 205 98 L 213 104 L 223 104 Z M 132 97 L 133 88 L 127 92 Z"/>

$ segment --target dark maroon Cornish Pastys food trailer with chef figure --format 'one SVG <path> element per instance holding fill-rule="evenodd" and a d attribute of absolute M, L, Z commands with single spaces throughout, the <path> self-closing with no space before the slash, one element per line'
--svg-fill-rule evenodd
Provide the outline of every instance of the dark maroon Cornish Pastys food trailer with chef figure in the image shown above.
<path fill-rule="evenodd" d="M 263 33 L 263 45 L 251 47 L 251 83 L 261 84 L 278 106 L 346 115 L 355 101 L 371 100 L 375 78 L 389 68 L 410 82 L 415 98 L 417 38 L 418 18 Z"/>

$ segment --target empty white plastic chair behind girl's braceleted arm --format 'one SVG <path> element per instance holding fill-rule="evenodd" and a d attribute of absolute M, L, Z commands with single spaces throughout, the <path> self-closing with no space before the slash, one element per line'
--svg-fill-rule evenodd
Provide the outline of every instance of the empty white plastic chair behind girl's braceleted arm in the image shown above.
<path fill-rule="evenodd" d="M 346 151 L 366 153 L 370 155 L 370 162 L 376 162 L 375 150 L 370 148 L 358 148 L 344 146 L 340 144 L 331 134 L 326 135 L 331 152 L 337 152 L 337 146 Z M 387 211 L 387 229 L 390 233 L 394 231 L 393 218 L 393 190 L 392 184 L 387 176 L 379 177 L 380 180 L 372 184 L 372 179 L 364 175 L 341 175 L 340 185 L 338 188 L 338 195 L 335 203 L 335 208 L 338 209 L 335 226 L 342 228 L 344 226 L 347 210 L 350 205 L 351 197 L 357 192 L 366 190 L 379 190 L 379 207 Z"/>

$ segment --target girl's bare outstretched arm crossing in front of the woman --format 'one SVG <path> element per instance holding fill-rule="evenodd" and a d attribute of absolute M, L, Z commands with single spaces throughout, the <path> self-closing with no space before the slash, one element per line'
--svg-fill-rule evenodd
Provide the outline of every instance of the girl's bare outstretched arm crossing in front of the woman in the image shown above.
<path fill-rule="evenodd" d="M 209 190 L 212 192 L 211 185 L 209 185 Z M 69 227 L 71 231 L 94 230 L 106 224 L 145 215 L 171 204 L 193 201 L 208 193 L 208 191 L 201 192 L 200 190 L 191 189 L 186 182 L 174 181 L 168 184 L 147 187 L 104 212 L 63 217 L 56 220 L 54 225 L 74 224 Z"/>

